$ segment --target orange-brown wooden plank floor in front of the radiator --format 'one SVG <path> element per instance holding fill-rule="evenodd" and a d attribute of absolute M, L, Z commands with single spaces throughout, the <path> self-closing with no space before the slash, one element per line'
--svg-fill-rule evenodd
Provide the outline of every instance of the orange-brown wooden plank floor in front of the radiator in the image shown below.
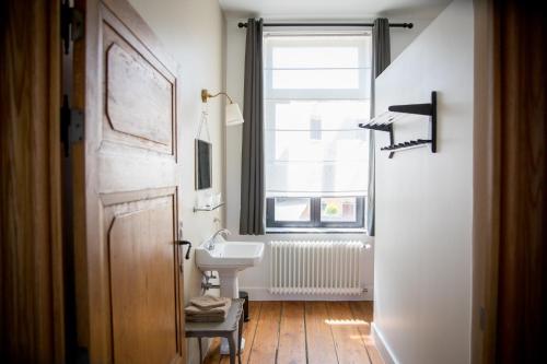
<path fill-rule="evenodd" d="M 383 364 L 372 302 L 249 302 L 249 316 L 243 364 Z M 219 345 L 213 340 L 205 363 L 230 363 Z"/>

